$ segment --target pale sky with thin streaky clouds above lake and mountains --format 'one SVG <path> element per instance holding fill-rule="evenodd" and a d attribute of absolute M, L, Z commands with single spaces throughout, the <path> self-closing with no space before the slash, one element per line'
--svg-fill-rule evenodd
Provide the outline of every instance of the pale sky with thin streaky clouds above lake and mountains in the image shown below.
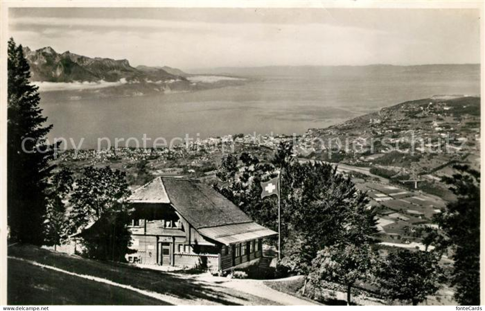
<path fill-rule="evenodd" d="M 9 36 L 183 70 L 480 63 L 477 9 L 10 8 Z"/>

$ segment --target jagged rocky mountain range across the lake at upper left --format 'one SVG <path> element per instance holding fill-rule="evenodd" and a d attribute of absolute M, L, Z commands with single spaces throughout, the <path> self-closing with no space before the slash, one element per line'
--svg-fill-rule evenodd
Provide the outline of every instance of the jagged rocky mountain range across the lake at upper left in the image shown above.
<path fill-rule="evenodd" d="M 32 51 L 24 48 L 24 54 L 31 67 L 31 80 L 37 82 L 117 82 L 185 80 L 180 75 L 163 69 L 142 71 L 129 65 L 128 60 L 87 57 L 65 51 L 57 53 L 51 47 Z"/>

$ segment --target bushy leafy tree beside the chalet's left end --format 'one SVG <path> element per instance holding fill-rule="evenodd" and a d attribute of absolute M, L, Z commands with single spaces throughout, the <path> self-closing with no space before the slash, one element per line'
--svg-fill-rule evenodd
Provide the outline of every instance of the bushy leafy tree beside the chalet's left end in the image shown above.
<path fill-rule="evenodd" d="M 96 222 L 107 211 L 122 211 L 126 208 L 123 200 L 129 194 L 126 173 L 109 166 L 85 167 L 69 200 L 72 203 L 70 233 Z"/>

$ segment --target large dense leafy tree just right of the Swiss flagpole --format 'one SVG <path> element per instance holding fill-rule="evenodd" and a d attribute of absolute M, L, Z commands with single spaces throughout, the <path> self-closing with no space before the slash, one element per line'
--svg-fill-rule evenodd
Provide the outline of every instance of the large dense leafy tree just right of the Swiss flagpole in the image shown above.
<path fill-rule="evenodd" d="M 335 167 L 318 162 L 293 163 L 282 179 L 292 188 L 282 186 L 286 228 L 291 233 L 285 239 L 281 264 L 305 275 L 307 280 L 312 260 L 325 246 L 374 242 L 375 210 L 367 208 L 365 194 Z"/>

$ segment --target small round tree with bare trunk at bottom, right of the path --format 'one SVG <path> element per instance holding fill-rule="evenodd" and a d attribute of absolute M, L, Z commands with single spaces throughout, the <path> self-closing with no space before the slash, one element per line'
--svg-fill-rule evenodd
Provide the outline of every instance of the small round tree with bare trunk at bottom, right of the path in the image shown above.
<path fill-rule="evenodd" d="M 377 257 L 368 244 L 350 243 L 327 246 L 317 253 L 312 262 L 310 281 L 336 282 L 346 287 L 347 305 L 351 304 L 351 291 L 356 281 L 372 275 Z"/>

